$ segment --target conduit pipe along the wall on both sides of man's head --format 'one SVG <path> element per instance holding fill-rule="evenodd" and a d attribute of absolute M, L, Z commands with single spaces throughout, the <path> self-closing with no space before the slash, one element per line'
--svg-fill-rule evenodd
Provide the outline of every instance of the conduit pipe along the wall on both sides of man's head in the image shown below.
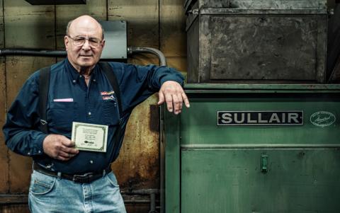
<path fill-rule="evenodd" d="M 166 58 L 160 50 L 152 47 L 128 47 L 128 54 L 137 53 L 151 53 L 159 58 L 161 66 L 166 66 Z M 21 55 L 21 56 L 42 56 L 42 57 L 66 57 L 67 52 L 65 50 L 38 50 L 38 49 L 0 49 L 0 56 L 6 55 Z"/>

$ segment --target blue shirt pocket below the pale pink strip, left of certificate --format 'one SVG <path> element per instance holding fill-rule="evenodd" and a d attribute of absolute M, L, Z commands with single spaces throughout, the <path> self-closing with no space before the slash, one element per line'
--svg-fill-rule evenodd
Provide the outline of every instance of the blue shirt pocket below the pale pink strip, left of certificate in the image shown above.
<path fill-rule="evenodd" d="M 74 102 L 51 102 L 47 110 L 49 126 L 60 132 L 72 131 L 72 122 L 77 116 L 77 104 Z"/>

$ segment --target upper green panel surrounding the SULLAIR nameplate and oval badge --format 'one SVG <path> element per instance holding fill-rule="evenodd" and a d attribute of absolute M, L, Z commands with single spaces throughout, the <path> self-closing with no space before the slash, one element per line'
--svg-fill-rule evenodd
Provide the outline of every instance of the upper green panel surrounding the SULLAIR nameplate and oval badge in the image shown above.
<path fill-rule="evenodd" d="M 221 110 L 303 110 L 304 125 L 217 127 L 217 111 Z M 311 115 L 319 111 L 340 117 L 339 93 L 200 94 L 191 98 L 191 108 L 183 110 L 181 115 L 181 144 L 339 143 L 339 120 L 327 128 L 317 127 L 310 122 Z"/>

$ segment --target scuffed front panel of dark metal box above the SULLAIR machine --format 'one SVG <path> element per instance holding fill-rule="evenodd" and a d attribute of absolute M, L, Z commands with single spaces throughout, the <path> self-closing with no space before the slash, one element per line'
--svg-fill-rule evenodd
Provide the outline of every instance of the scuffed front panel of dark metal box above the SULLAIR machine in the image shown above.
<path fill-rule="evenodd" d="M 210 17 L 210 78 L 314 80 L 319 19 Z"/>

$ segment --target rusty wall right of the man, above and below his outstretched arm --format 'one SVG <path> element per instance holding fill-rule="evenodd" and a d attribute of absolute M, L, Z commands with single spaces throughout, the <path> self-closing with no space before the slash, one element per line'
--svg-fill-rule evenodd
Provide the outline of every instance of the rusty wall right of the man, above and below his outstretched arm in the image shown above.
<path fill-rule="evenodd" d="M 142 10 L 141 10 L 142 8 Z M 158 1 L 108 1 L 108 20 L 128 22 L 128 46 L 159 48 Z M 134 64 L 158 64 L 151 54 L 136 54 L 128 60 Z M 118 160 L 113 163 L 121 188 L 159 188 L 158 110 L 154 96 L 133 111 L 125 132 Z"/>

